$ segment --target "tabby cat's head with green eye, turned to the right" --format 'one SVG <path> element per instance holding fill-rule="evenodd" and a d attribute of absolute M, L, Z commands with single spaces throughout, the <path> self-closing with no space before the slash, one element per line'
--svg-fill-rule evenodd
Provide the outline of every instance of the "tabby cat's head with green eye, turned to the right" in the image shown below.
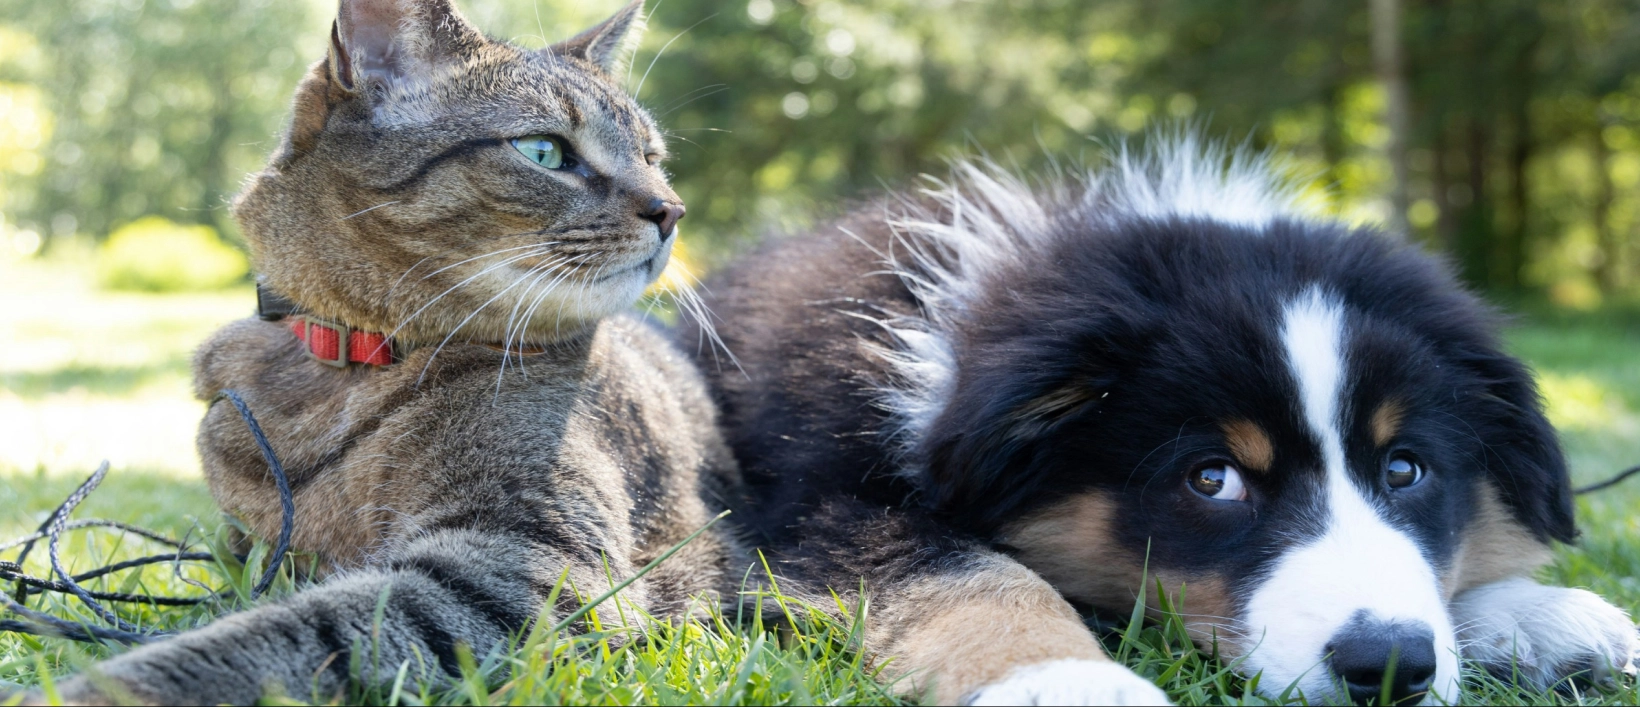
<path fill-rule="evenodd" d="M 264 282 L 410 343 L 546 343 L 630 307 L 684 213 L 620 84 L 641 28 L 635 0 L 530 51 L 449 0 L 341 0 L 235 203 Z"/>

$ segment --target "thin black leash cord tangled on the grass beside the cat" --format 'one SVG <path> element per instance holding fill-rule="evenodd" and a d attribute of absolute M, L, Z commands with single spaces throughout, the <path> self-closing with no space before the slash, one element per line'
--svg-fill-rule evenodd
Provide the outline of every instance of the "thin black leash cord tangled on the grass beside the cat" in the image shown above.
<path fill-rule="evenodd" d="M 246 405 L 244 399 L 241 399 L 239 394 L 235 390 L 218 392 L 216 397 L 212 399 L 212 404 L 215 405 L 218 400 L 223 399 L 233 404 L 235 410 L 238 410 L 239 417 L 244 420 L 246 428 L 251 430 L 251 436 L 256 438 L 256 446 L 261 449 L 262 459 L 267 461 L 267 469 L 274 474 L 274 484 L 279 487 L 279 500 L 282 510 L 279 541 L 274 546 L 272 556 L 269 556 L 267 569 L 262 572 L 262 577 L 251 589 L 251 599 L 257 599 L 262 595 L 262 592 L 267 591 L 269 586 L 274 584 L 274 579 L 279 577 L 279 569 L 284 564 L 285 554 L 290 551 L 290 535 L 295 528 L 297 507 L 295 507 L 295 499 L 290 492 L 290 479 L 285 476 L 285 468 L 284 464 L 279 463 L 279 456 L 274 454 L 274 448 L 272 445 L 267 443 L 267 435 L 262 433 L 262 426 L 256 422 L 256 415 L 251 413 L 249 405 Z M 195 561 L 215 559 L 215 556 L 210 553 L 189 553 L 187 543 L 184 541 L 172 540 L 134 525 L 118 523 L 112 520 L 71 522 L 69 517 L 74 513 L 74 509 L 77 509 L 80 502 L 85 500 L 85 497 L 89 497 L 93 490 L 97 490 L 97 486 L 100 486 L 103 477 L 107 476 L 108 476 L 108 463 L 105 461 L 102 463 L 102 466 L 97 468 L 95 472 L 92 472 L 89 479 L 85 479 L 84 484 L 74 489 L 74 492 L 69 494 L 69 497 L 61 505 L 57 505 L 56 510 L 51 512 L 51 515 L 46 517 L 46 520 L 39 525 L 39 528 L 34 533 L 0 545 L 0 551 L 21 548 L 18 550 L 18 556 L 15 561 L 0 559 L 0 581 L 16 582 L 16 589 L 11 595 L 0 594 L 0 605 L 3 605 L 5 610 L 23 618 L 23 620 L 0 620 L 0 632 L 59 636 L 87 643 L 102 643 L 102 641 L 151 643 L 154 640 L 166 638 L 171 633 L 144 632 L 139 627 L 126 623 L 118 613 L 108 610 L 98 602 L 128 602 L 128 604 L 180 607 L 180 605 L 197 605 L 197 604 L 220 600 L 230 594 L 230 592 L 215 592 L 205 597 L 149 597 L 149 595 L 121 594 L 121 592 L 93 592 L 82 587 L 80 582 L 84 581 L 102 577 L 105 574 L 118 572 L 123 569 L 143 568 L 148 564 L 159 564 L 159 563 L 195 563 Z M 69 574 L 66 569 L 62 569 L 62 559 L 57 551 L 59 540 L 64 531 L 89 530 L 89 528 L 113 528 L 116 531 L 131 533 L 146 538 L 149 541 L 175 548 L 175 553 L 126 559 L 87 572 Z M 51 571 L 57 577 L 56 581 L 31 577 L 23 572 L 23 561 L 28 559 L 28 554 L 34 550 L 34 545 L 41 540 L 46 540 L 46 551 L 51 559 Z M 82 604 L 90 607 L 93 613 L 97 613 L 102 620 L 112 623 L 115 628 L 103 628 L 79 622 L 69 622 L 64 618 L 52 617 L 49 613 L 28 609 L 28 605 L 25 604 L 28 602 L 28 597 L 44 592 L 61 592 L 75 595 Z"/>

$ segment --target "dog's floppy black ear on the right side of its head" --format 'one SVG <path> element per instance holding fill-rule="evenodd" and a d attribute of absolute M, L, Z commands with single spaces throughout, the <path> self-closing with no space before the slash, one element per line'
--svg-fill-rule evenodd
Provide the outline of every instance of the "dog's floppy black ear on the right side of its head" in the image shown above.
<path fill-rule="evenodd" d="M 1504 504 L 1538 540 L 1576 540 L 1571 474 L 1532 372 L 1489 348 L 1460 361 L 1483 384 L 1468 422 L 1486 443 L 1486 474 Z"/>

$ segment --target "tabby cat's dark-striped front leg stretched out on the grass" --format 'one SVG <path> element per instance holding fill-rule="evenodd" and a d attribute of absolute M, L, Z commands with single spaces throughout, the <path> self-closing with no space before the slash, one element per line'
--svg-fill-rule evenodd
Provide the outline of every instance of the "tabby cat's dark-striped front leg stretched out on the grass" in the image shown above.
<path fill-rule="evenodd" d="M 602 566 L 563 550 L 523 533 L 426 531 L 379 566 L 136 648 L 57 692 L 64 704 L 256 704 L 269 694 L 326 702 L 353 681 L 380 686 L 400 669 L 448 681 L 459 674 L 459 646 L 482 659 L 531 622 L 558 617 L 559 607 L 543 613 L 543 600 L 564 568 L 581 587 L 605 579 Z"/>

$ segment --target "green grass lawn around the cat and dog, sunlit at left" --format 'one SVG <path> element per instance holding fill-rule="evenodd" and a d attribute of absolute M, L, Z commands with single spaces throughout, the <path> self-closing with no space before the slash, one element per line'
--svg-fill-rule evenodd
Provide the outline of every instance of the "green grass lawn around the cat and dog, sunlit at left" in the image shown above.
<path fill-rule="evenodd" d="M 251 310 L 248 290 L 210 295 L 102 294 L 84 264 L 0 262 L 0 540 L 28 533 L 95 464 L 113 472 L 77 517 L 116 518 L 190 535 L 202 545 L 220 515 L 200 479 L 194 426 L 203 405 L 189 394 L 192 348 L 223 322 Z M 26 303 L 26 305 L 13 305 Z M 1550 415 L 1565 435 L 1574 477 L 1597 481 L 1640 463 L 1640 317 L 1622 312 L 1538 312 L 1509 335 L 1540 372 Z M 1583 541 L 1560 548 L 1545 581 L 1589 587 L 1640 613 L 1640 479 L 1578 502 Z M 110 533 L 80 533 L 64 548 L 72 568 L 154 548 Z M 30 561 L 34 574 L 46 568 Z M 10 553 L 8 553 L 10 556 Z M 254 561 L 253 561 L 254 564 Z M 256 576 L 235 563 L 195 566 L 189 579 L 246 587 Z M 93 589 L 198 595 L 169 566 L 92 582 Z M 285 577 L 276 595 L 292 591 Z M 658 623 L 646 640 L 620 632 L 564 636 L 536 632 L 515 650 L 479 656 L 467 679 L 435 687 L 421 666 L 397 686 L 349 694 L 348 704 L 894 704 L 872 666 L 850 646 L 869 607 L 810 613 L 786 597 L 790 627 L 745 617 Z M 90 620 L 72 599 L 38 597 L 38 609 Z M 189 628 L 233 604 L 126 612 L 156 628 Z M 864 612 L 861 609 L 866 609 Z M 605 617 L 631 607 L 604 605 Z M 828 618 L 841 617 L 841 618 Z M 1200 653 L 1176 620 L 1120 622 L 1107 648 L 1155 679 L 1179 704 L 1273 704 L 1256 684 Z M 0 635 L 0 689 L 43 686 L 110 655 L 107 648 Z M 1268 686 L 1266 686 L 1268 687 Z M 1279 692 L 1281 687 L 1276 687 Z M 294 696 L 312 700 L 313 696 Z M 1619 691 L 1533 694 L 1476 673 L 1466 699 L 1479 704 L 1640 704 L 1633 681 Z"/>

